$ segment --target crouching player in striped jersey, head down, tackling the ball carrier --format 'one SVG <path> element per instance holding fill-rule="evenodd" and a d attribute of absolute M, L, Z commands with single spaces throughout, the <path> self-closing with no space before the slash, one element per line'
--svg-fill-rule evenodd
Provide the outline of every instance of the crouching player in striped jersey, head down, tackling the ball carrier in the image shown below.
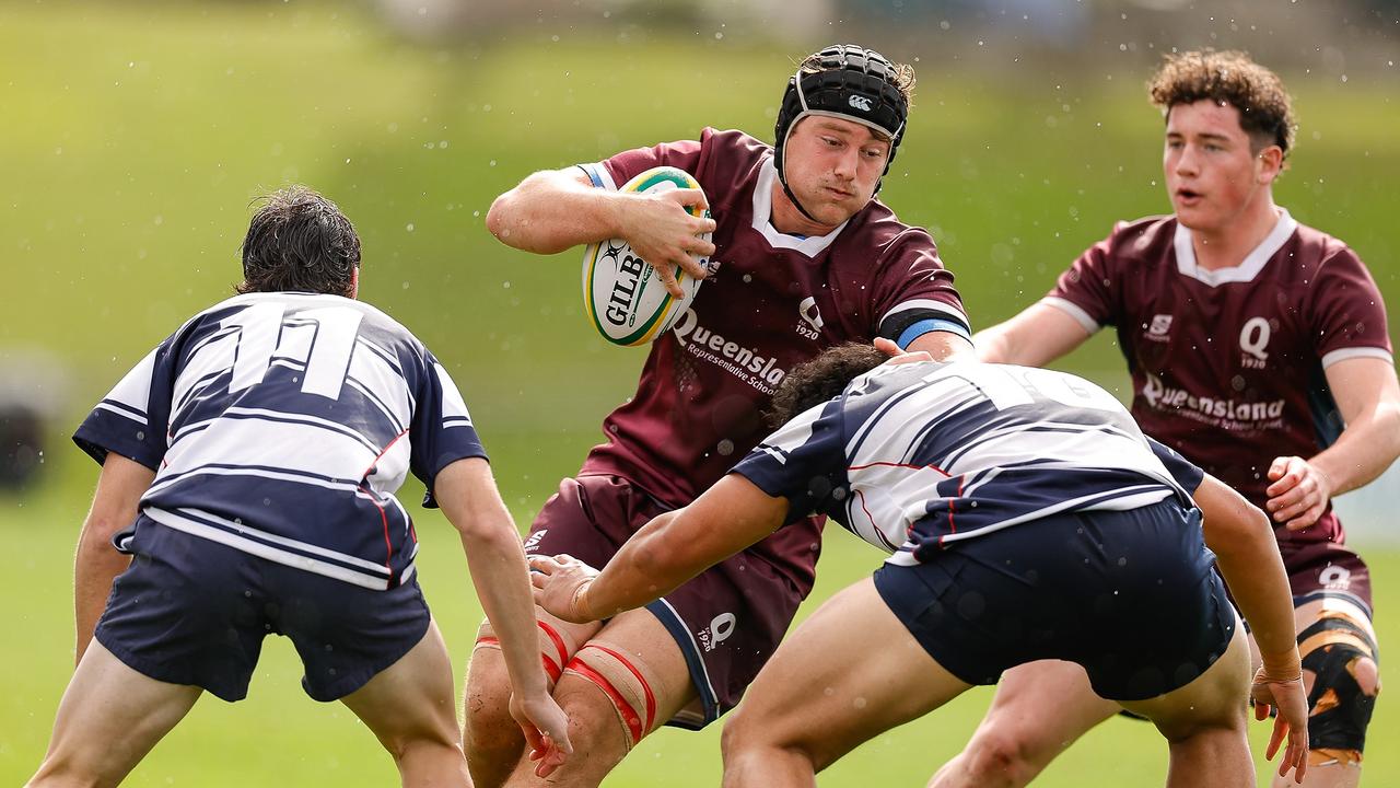
<path fill-rule="evenodd" d="M 1287 733 L 1280 773 L 1302 777 L 1302 667 L 1264 515 L 1085 380 L 917 358 L 855 377 L 885 356 L 847 345 L 794 370 L 776 401 L 785 426 L 602 573 L 532 557 L 536 602 L 571 621 L 613 616 L 823 512 L 893 555 L 778 646 L 725 725 L 725 785 L 813 785 L 973 684 L 1065 659 L 1156 724 L 1168 785 L 1252 788 L 1249 645 L 1215 551 L 1264 653 L 1256 711 L 1280 709 L 1268 757 Z"/>

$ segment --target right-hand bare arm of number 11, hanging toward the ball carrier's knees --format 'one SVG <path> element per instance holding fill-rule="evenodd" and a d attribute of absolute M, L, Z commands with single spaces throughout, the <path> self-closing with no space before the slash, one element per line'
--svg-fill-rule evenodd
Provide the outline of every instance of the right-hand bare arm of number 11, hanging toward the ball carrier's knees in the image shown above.
<path fill-rule="evenodd" d="M 568 719 L 550 697 L 539 663 L 535 606 L 519 533 L 496 489 L 491 466 L 480 457 L 458 460 L 438 471 L 433 495 L 462 536 L 472 586 L 501 641 L 511 677 L 511 715 L 525 731 L 531 749 L 543 759 L 540 768 L 547 774 L 573 746 Z M 542 740 L 540 733 L 549 740 Z"/>

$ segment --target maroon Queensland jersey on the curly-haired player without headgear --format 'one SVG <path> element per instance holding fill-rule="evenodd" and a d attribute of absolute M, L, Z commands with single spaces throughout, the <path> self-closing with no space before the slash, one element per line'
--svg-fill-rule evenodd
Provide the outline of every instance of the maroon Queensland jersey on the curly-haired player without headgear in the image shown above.
<path fill-rule="evenodd" d="M 1120 223 L 1042 301 L 1089 332 L 1117 328 L 1142 430 L 1264 506 L 1274 457 L 1312 457 L 1341 433 L 1323 370 L 1392 360 L 1385 304 L 1341 241 L 1281 210 L 1245 261 L 1207 271 L 1175 217 Z M 1277 526 L 1277 523 L 1275 523 Z M 1280 541 L 1336 541 L 1317 524 Z"/>

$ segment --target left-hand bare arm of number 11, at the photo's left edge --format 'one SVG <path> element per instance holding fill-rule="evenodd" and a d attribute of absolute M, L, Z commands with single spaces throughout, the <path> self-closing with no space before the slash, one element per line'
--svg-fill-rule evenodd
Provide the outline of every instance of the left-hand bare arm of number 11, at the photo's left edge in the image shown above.
<path fill-rule="evenodd" d="M 136 508 L 141 495 L 155 481 L 155 471 L 108 453 L 102 474 L 97 480 L 92 509 L 78 534 L 77 558 L 73 562 L 73 611 L 77 621 L 77 662 L 92 642 L 92 631 L 112 593 L 112 580 L 132 559 L 112 547 L 112 536 L 136 522 Z"/>

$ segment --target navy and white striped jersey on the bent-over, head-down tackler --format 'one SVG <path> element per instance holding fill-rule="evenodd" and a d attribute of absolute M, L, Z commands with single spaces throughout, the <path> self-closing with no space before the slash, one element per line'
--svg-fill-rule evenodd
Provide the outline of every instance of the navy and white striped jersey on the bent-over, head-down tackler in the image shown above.
<path fill-rule="evenodd" d="M 911 363 L 857 377 L 794 418 L 734 473 L 893 555 L 1061 512 L 1135 509 L 1190 492 L 1200 468 L 1149 440 L 1098 386 L 1008 365 Z"/>

